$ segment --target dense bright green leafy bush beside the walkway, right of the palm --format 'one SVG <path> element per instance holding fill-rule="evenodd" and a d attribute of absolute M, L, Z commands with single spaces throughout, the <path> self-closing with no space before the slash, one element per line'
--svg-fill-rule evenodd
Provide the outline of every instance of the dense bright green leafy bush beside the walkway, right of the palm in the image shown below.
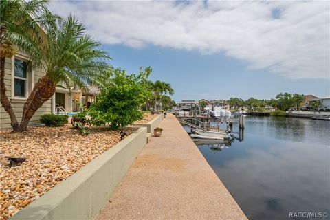
<path fill-rule="evenodd" d="M 126 75 L 118 68 L 113 74 L 115 85 L 109 85 L 97 96 L 89 109 L 89 123 L 96 126 L 109 123 L 111 129 L 121 129 L 142 119 L 139 107 L 151 96 L 146 84 L 150 72 Z"/>

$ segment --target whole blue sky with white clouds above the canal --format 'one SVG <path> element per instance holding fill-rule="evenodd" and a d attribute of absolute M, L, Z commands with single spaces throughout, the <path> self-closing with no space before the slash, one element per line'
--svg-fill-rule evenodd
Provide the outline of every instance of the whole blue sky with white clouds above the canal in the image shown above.
<path fill-rule="evenodd" d="M 330 95 L 330 1 L 54 1 L 113 67 L 170 83 L 173 100 Z"/>

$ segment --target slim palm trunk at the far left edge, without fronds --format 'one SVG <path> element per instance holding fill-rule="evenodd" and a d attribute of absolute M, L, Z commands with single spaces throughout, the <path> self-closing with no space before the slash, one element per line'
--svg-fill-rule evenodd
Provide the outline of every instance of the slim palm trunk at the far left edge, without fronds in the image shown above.
<path fill-rule="evenodd" d="M 19 123 L 17 122 L 16 115 L 14 110 L 12 109 L 12 104 L 10 104 L 10 100 L 5 94 L 5 57 L 0 57 L 0 102 L 3 106 L 3 109 L 7 111 L 10 117 L 10 125 L 12 126 L 13 131 L 19 130 Z"/>

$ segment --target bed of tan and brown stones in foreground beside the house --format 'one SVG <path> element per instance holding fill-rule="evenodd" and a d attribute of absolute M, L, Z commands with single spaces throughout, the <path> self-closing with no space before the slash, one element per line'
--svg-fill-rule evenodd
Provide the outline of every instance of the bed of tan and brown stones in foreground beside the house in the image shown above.
<path fill-rule="evenodd" d="M 126 128 L 130 135 L 137 128 Z M 0 219 L 8 219 L 92 159 L 120 142 L 120 131 L 90 127 L 82 136 L 68 124 L 34 127 L 23 133 L 0 131 Z M 24 157 L 9 167 L 7 157 Z"/>

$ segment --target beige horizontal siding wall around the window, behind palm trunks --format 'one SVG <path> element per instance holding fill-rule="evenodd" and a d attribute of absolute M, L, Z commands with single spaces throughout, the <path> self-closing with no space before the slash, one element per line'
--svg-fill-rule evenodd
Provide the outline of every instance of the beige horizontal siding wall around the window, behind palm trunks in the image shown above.
<path fill-rule="evenodd" d="M 18 53 L 17 57 L 26 57 L 26 54 Z M 23 107 L 24 103 L 26 102 L 26 99 L 15 99 L 12 97 L 12 66 L 14 58 L 6 58 L 5 59 L 5 88 L 6 88 L 6 94 L 8 98 L 10 99 L 10 102 L 12 103 L 12 107 L 14 109 L 14 112 L 17 116 L 17 120 L 21 122 L 21 117 L 23 113 Z M 45 71 L 42 69 L 32 69 L 32 71 L 28 72 L 28 94 L 32 91 L 32 87 L 34 84 L 39 80 L 39 78 L 43 77 L 45 75 Z M 40 115 L 43 115 L 45 113 L 51 113 L 52 112 L 52 104 L 51 100 L 48 100 L 43 104 L 43 106 L 36 111 L 34 116 L 30 120 L 30 125 L 36 125 L 39 123 Z M 8 113 L 3 109 L 2 105 L 0 104 L 0 129 L 10 129 L 10 118 Z"/>

